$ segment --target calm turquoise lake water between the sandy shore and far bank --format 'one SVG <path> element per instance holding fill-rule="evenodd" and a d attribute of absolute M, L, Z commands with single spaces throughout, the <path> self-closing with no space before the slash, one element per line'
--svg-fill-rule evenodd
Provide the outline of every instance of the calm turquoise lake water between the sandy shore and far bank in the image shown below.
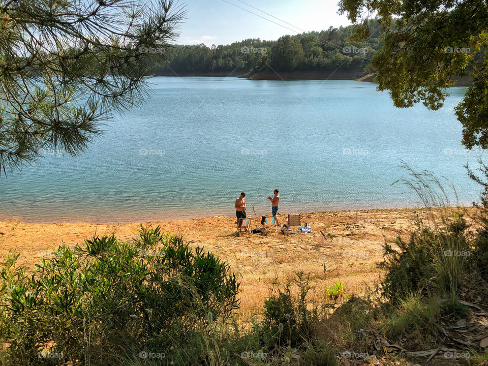
<path fill-rule="evenodd" d="M 439 111 L 396 109 L 375 84 L 156 77 L 140 108 L 110 121 L 77 158 L 46 151 L 0 178 L 0 218 L 27 222 L 127 222 L 232 216 L 246 192 L 256 214 L 280 190 L 280 211 L 413 207 L 391 183 L 429 169 L 470 204 L 480 188 L 463 165 L 451 89 Z M 249 210 L 248 210 L 249 211 Z M 250 210 L 252 213 L 252 209 Z"/>

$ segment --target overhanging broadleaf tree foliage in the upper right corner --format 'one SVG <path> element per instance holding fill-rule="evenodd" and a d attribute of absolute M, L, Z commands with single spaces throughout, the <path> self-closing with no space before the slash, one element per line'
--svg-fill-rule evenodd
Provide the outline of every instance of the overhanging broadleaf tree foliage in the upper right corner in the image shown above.
<path fill-rule="evenodd" d="M 481 0 L 341 0 L 340 13 L 355 23 L 356 39 L 369 36 L 375 18 L 383 46 L 371 62 L 379 90 L 393 104 L 439 109 L 456 77 L 472 86 L 455 108 L 467 148 L 488 147 L 488 5 Z"/>

